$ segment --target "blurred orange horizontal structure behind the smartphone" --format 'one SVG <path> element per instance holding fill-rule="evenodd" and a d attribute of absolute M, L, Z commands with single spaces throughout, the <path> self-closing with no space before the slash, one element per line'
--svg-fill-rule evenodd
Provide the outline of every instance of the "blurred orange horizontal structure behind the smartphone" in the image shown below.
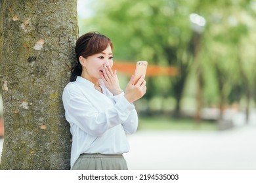
<path fill-rule="evenodd" d="M 112 70 L 117 70 L 119 73 L 133 75 L 135 72 L 136 62 L 134 61 L 114 61 Z M 175 67 L 160 67 L 158 65 L 148 64 L 146 76 L 175 76 L 178 75 L 178 70 Z"/>

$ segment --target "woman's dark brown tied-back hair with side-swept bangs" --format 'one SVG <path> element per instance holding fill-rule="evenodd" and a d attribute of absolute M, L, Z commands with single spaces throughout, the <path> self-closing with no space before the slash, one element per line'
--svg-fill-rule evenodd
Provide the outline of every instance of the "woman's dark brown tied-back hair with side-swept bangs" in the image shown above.
<path fill-rule="evenodd" d="M 81 76 L 82 66 L 79 61 L 79 57 L 87 58 L 104 51 L 108 45 L 113 49 L 113 44 L 110 39 L 100 33 L 89 32 L 79 37 L 75 43 L 75 54 L 77 59 L 77 65 L 72 68 L 72 75 L 70 76 L 70 82 L 75 81 L 77 76 Z"/>

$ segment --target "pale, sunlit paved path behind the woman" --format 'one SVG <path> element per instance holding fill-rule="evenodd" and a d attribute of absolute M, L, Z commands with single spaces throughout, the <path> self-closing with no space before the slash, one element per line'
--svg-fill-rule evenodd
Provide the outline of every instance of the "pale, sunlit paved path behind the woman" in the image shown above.
<path fill-rule="evenodd" d="M 227 131 L 137 131 L 124 154 L 129 169 L 256 170 L 256 126 Z M 3 138 L 0 139 L 0 152 Z"/>

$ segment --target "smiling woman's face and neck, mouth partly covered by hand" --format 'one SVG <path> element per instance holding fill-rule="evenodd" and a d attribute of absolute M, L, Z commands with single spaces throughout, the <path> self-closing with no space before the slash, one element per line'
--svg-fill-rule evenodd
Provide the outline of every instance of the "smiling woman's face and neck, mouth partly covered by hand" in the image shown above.
<path fill-rule="evenodd" d="M 81 76 L 96 84 L 98 79 L 100 79 L 103 75 L 102 71 L 104 66 L 113 66 L 113 54 L 111 46 L 108 45 L 106 50 L 83 59 L 84 60 L 82 62 L 80 61 L 81 65 L 83 65 Z"/>

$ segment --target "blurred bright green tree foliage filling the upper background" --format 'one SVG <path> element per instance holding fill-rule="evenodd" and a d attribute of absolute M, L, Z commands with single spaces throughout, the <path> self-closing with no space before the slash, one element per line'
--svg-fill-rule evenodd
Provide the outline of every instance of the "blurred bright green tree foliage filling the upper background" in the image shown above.
<path fill-rule="evenodd" d="M 83 20 L 80 29 L 108 35 L 115 59 L 144 59 L 179 69 L 175 77 L 147 78 L 148 99 L 175 97 L 179 109 L 183 94 L 195 97 L 199 80 L 207 106 L 239 103 L 255 93 L 255 1 L 96 2 L 95 16 Z M 192 29 L 192 13 L 206 20 L 200 33 Z"/>

